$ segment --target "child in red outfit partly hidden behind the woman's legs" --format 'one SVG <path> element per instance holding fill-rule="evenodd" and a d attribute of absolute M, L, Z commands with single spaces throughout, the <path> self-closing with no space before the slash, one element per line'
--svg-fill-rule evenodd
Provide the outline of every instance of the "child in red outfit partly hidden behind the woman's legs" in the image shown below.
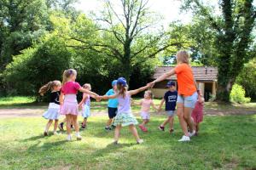
<path fill-rule="evenodd" d="M 199 95 L 201 95 L 201 94 L 199 93 Z M 203 121 L 204 102 L 205 102 L 205 99 L 202 96 L 201 96 L 201 98 L 197 99 L 197 101 L 195 103 L 195 108 L 191 114 L 193 121 L 194 121 L 194 126 L 195 126 L 195 136 L 198 136 L 199 124 L 200 124 L 200 122 Z"/>

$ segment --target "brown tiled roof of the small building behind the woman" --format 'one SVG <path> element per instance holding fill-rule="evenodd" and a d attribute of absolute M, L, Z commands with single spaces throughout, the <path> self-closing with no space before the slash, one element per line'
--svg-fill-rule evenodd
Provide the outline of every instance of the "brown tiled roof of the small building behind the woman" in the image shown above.
<path fill-rule="evenodd" d="M 154 71 L 153 79 L 160 77 L 166 71 L 170 71 L 174 66 L 160 66 Z M 218 69 L 211 66 L 192 66 L 196 81 L 217 81 Z M 168 80 L 177 80 L 176 75 L 167 78 Z"/>

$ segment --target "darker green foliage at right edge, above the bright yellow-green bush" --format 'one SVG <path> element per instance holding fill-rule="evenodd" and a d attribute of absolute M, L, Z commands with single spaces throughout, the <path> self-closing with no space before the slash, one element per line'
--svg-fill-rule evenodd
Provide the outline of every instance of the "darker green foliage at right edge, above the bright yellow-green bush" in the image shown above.
<path fill-rule="evenodd" d="M 256 99 L 256 58 L 244 65 L 236 83 L 245 88 L 246 96 Z"/>

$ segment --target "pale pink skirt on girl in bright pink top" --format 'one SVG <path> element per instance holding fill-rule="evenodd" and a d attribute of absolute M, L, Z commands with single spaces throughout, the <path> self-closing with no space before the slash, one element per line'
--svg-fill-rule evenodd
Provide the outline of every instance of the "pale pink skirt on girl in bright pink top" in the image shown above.
<path fill-rule="evenodd" d="M 61 115 L 79 115 L 79 104 L 76 94 L 66 94 L 61 107 Z"/>

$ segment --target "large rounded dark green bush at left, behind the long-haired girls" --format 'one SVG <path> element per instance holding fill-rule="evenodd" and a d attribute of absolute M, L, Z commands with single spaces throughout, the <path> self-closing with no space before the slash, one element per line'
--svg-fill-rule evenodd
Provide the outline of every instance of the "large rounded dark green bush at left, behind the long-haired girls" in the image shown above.
<path fill-rule="evenodd" d="M 36 95 L 44 83 L 61 80 L 71 57 L 65 42 L 55 35 L 48 35 L 42 42 L 15 56 L 3 72 L 3 78 L 7 88 L 15 90 L 14 94 Z"/>

